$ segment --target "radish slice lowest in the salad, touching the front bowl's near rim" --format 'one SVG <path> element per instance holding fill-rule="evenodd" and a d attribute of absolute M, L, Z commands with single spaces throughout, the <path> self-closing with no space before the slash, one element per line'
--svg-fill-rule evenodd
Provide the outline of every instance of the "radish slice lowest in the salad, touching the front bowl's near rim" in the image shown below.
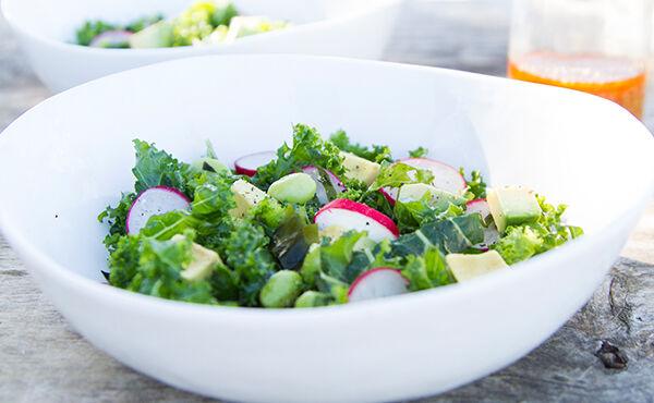
<path fill-rule="evenodd" d="M 377 267 L 354 280 L 348 291 L 348 303 L 379 298 L 408 293 L 409 281 L 400 270 L 390 267 Z"/>

